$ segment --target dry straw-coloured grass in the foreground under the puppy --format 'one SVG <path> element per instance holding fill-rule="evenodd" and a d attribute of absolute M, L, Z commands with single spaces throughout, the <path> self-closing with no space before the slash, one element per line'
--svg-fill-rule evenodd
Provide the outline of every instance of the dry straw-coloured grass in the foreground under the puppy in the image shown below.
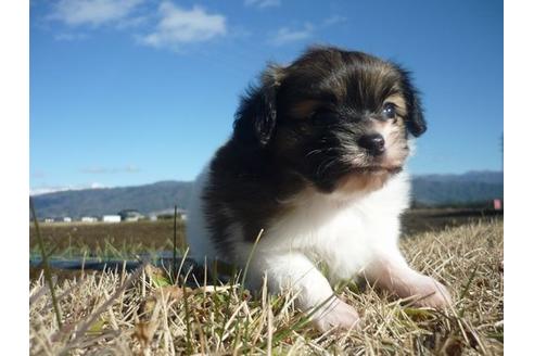
<path fill-rule="evenodd" d="M 417 233 L 402 249 L 414 267 L 449 287 L 453 310 L 410 308 L 351 283 L 341 295 L 358 309 L 361 330 L 321 334 L 291 295 L 253 298 L 239 284 L 212 285 L 202 276 L 200 288 L 173 285 L 148 265 L 62 280 L 60 329 L 41 275 L 29 283 L 30 354 L 501 355 L 503 221 Z"/>

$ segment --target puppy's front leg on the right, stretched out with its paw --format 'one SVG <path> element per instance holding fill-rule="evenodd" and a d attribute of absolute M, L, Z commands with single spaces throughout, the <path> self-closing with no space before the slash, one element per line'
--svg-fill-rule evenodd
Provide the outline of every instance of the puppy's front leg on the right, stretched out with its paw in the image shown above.
<path fill-rule="evenodd" d="M 435 279 L 411 269 L 398 254 L 382 255 L 365 269 L 366 279 L 380 289 L 404 298 L 414 297 L 414 305 L 446 308 L 452 305 L 445 285 Z"/>

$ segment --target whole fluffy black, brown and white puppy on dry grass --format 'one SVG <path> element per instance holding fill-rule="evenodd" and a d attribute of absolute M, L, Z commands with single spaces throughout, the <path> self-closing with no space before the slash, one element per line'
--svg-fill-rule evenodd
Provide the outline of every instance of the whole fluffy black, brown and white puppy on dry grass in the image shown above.
<path fill-rule="evenodd" d="M 291 290 L 323 331 L 357 323 L 331 288 L 357 276 L 419 306 L 448 305 L 445 287 L 411 269 L 397 247 L 409 203 L 403 165 L 425 129 L 398 65 L 313 48 L 288 66 L 269 66 L 195 182 L 192 256 L 240 267 L 250 259 L 249 288 L 265 277 L 270 292 Z"/>

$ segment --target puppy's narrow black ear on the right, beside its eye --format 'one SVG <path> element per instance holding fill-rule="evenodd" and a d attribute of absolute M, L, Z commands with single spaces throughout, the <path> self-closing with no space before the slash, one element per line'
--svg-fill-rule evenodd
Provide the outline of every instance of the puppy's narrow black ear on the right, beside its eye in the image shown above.
<path fill-rule="evenodd" d="M 407 105 L 406 126 L 408 131 L 415 137 L 419 137 L 427 131 L 427 120 L 424 119 L 421 100 L 419 99 L 418 90 L 412 86 L 410 73 L 397 65 L 397 69 L 402 76 L 402 85 L 404 97 Z"/>

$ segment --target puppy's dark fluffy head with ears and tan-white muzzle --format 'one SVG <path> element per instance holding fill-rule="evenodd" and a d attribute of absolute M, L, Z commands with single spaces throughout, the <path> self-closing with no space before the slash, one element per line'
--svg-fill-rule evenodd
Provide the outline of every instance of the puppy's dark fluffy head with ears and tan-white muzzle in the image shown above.
<path fill-rule="evenodd" d="M 267 68 L 243 98 L 234 139 L 331 192 L 380 188 L 402 169 L 409 136 L 425 129 L 406 71 L 361 52 L 316 48 Z"/>

